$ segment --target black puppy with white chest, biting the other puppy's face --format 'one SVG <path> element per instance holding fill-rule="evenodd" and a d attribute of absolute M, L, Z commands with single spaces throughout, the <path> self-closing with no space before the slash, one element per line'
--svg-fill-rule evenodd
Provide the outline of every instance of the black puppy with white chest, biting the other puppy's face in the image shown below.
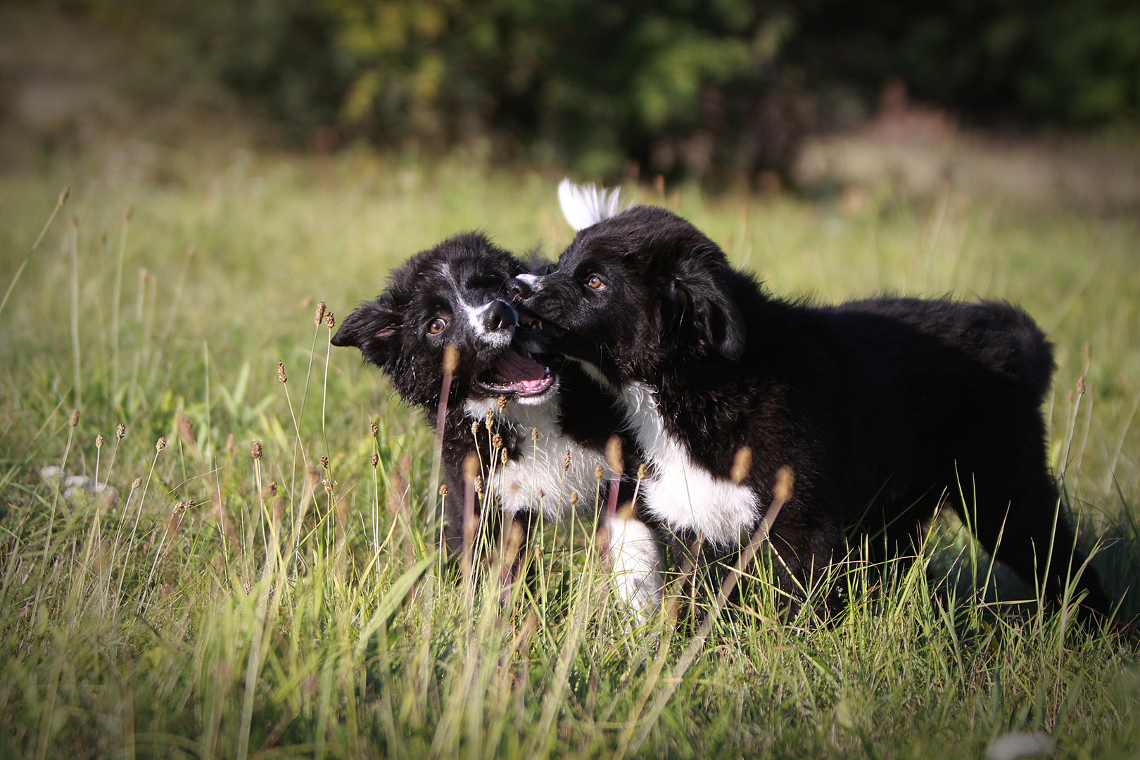
<path fill-rule="evenodd" d="M 515 287 L 547 332 L 564 330 L 554 349 L 620 401 L 650 464 L 644 512 L 675 550 L 732 556 L 788 465 L 795 489 L 771 541 L 790 591 L 844 556 L 845 530 L 905 551 L 950 498 L 983 546 L 1048 597 L 1075 580 L 1083 612 L 1109 612 L 1058 514 L 1040 410 L 1052 352 L 1020 309 L 789 302 L 649 206 L 584 226 L 553 271 Z M 752 464 L 735 483 L 742 447 Z"/>

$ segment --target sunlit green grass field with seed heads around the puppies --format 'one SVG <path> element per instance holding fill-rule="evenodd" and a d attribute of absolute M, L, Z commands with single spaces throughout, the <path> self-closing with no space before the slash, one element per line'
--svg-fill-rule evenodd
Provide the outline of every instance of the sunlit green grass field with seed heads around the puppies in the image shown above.
<path fill-rule="evenodd" d="M 1042 614 L 950 518 L 882 594 L 838 569 L 855 600 L 824 626 L 780 621 L 762 553 L 707 639 L 673 605 L 638 627 L 583 523 L 505 598 L 498 559 L 442 566 L 426 425 L 314 310 L 458 230 L 556 255 L 559 179 L 148 146 L 0 177 L 2 288 L 71 187 L 0 312 L 0 757 L 961 758 L 1010 732 L 1134 757 L 1134 635 Z M 1021 303 L 1057 344 L 1065 506 L 1140 613 L 1135 222 L 636 191 L 776 293 Z"/>

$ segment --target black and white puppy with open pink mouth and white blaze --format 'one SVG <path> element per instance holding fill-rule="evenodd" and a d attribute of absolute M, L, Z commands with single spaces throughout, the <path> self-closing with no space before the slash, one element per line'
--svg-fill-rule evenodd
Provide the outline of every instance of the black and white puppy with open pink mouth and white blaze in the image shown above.
<path fill-rule="evenodd" d="M 458 350 L 442 436 L 446 537 L 453 551 L 463 540 L 463 463 L 469 453 L 478 451 L 489 465 L 506 451 L 506 461 L 495 461 L 492 475 L 491 468 L 483 471 L 503 518 L 528 522 L 542 512 L 547 520 L 560 520 L 571 510 L 572 491 L 581 497 L 579 510 L 594 508 L 595 469 L 606 466 L 606 441 L 621 418 L 612 394 L 576 362 L 535 360 L 544 338 L 527 328 L 535 320 L 520 314 L 508 295 L 511 278 L 528 271 L 487 237 L 456 235 L 393 270 L 384 292 L 357 308 L 333 337 L 333 345 L 360 349 L 365 361 L 380 367 L 433 426 L 445 346 Z M 502 397 L 506 404 L 498 409 Z M 488 410 L 495 430 L 474 435 L 472 422 L 487 419 Z M 538 435 L 532 440 L 534 430 Z M 492 449 L 492 433 L 502 436 L 499 450 Z M 626 459 L 636 471 L 638 460 Z M 603 504 L 610 481 L 605 473 Z M 497 522 L 498 515 L 486 517 Z M 609 532 L 619 593 L 649 611 L 661 590 L 650 530 L 613 517 Z M 640 548 L 646 542 L 649 549 Z"/>

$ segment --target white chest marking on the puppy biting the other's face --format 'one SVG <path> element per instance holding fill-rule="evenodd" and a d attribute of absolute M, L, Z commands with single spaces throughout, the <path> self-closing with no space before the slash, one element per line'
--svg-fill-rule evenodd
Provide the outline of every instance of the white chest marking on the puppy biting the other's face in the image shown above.
<path fill-rule="evenodd" d="M 718 546 L 739 545 L 756 522 L 751 489 L 716 477 L 692 460 L 666 431 L 652 387 L 627 383 L 621 400 L 634 436 L 657 471 L 644 485 L 645 508 L 670 528 L 697 531 Z"/>

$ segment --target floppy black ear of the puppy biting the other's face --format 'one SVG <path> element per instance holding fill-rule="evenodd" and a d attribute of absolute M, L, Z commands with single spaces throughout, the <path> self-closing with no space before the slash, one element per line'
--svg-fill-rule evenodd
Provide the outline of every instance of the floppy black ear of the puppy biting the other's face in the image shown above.
<path fill-rule="evenodd" d="M 665 324 L 679 342 L 695 337 L 727 359 L 744 352 L 744 318 L 724 277 L 710 268 L 681 268 L 666 293 Z"/>

